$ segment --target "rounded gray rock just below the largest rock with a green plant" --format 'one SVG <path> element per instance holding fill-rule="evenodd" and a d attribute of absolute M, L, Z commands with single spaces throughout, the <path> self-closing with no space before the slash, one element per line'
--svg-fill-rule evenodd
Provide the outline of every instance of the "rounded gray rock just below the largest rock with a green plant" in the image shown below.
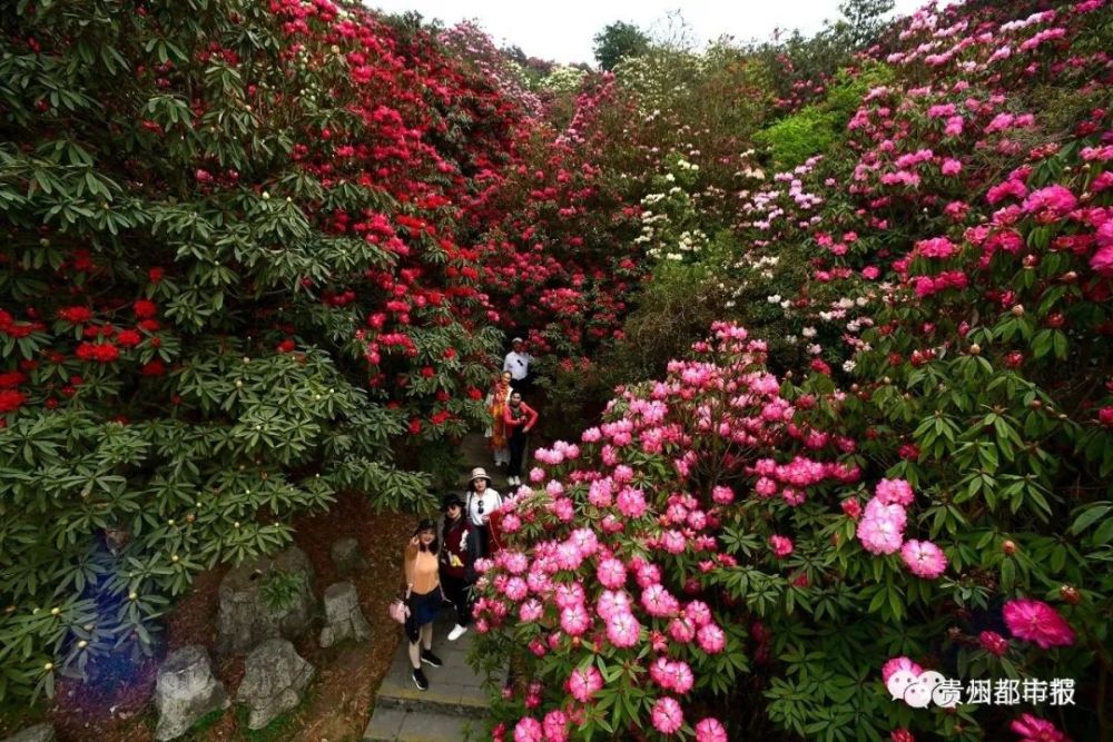
<path fill-rule="evenodd" d="M 268 639 L 247 655 L 236 700 L 252 710 L 250 729 L 263 729 L 297 706 L 316 671 L 285 639 Z"/>

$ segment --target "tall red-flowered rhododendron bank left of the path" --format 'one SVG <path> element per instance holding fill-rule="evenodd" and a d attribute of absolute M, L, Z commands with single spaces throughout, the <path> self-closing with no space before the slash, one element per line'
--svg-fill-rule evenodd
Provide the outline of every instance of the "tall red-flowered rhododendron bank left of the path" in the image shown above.
<path fill-rule="evenodd" d="M 0 12 L 0 698 L 480 419 L 467 247 L 525 112 L 358 6 Z M 392 463 L 392 454 L 404 458 Z"/>

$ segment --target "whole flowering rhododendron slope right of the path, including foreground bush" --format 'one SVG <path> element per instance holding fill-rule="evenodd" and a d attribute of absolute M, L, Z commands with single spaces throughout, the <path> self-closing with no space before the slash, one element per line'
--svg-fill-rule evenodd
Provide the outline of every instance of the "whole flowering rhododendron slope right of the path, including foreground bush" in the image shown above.
<path fill-rule="evenodd" d="M 598 161 L 660 148 L 627 171 L 651 283 L 600 370 L 558 390 L 657 380 L 539 452 L 511 506 L 481 652 L 533 683 L 496 733 L 1110 733 L 1111 16 L 920 11 L 821 89 L 767 99 L 785 113 L 751 118 L 729 169 L 649 139 L 658 118 L 730 130 L 617 69 L 652 116 Z M 646 352 L 699 316 L 761 342 L 719 325 L 686 360 Z M 885 689 L 900 669 L 1077 687 L 913 709 Z"/>

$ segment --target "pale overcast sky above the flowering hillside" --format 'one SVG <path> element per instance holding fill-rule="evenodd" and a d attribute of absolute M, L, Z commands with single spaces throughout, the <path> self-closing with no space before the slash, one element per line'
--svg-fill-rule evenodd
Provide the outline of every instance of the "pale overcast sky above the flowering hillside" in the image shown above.
<path fill-rule="evenodd" d="M 896 0 L 906 16 L 926 0 Z M 739 41 L 765 40 L 775 28 L 818 30 L 838 17 L 839 0 L 363 0 L 388 12 L 416 10 L 447 26 L 476 19 L 502 46 L 518 46 L 531 57 L 558 62 L 594 62 L 592 37 L 617 20 L 643 29 L 662 28 L 669 11 L 680 10 L 697 42 L 726 33 Z M 940 4 L 944 4 L 940 2 Z"/>

